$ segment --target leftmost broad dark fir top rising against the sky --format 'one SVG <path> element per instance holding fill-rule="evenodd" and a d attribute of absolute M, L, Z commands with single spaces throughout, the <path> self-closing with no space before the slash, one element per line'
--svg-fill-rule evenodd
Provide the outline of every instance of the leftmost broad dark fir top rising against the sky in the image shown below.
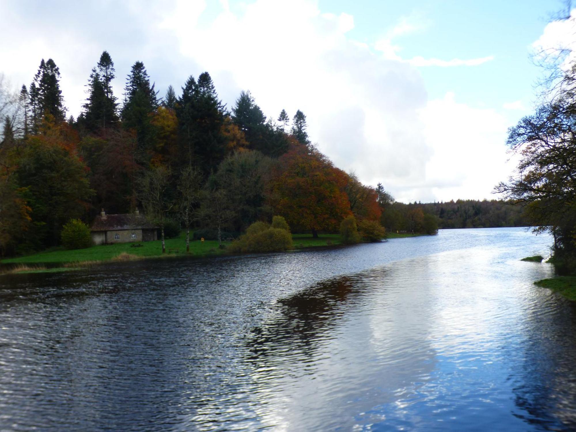
<path fill-rule="evenodd" d="M 60 90 L 60 70 L 54 60 L 48 59 L 46 62 L 44 59 L 41 60 L 32 84 L 35 86 L 34 96 L 37 110 L 34 118 L 35 127 L 39 126 L 39 122 L 46 115 L 54 117 L 56 122 L 65 120 L 66 108 L 64 107 L 62 90 Z"/>

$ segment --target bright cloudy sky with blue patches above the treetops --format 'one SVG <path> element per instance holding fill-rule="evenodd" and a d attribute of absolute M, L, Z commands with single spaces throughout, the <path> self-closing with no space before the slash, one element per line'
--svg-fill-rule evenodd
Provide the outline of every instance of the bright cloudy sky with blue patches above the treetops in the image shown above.
<path fill-rule="evenodd" d="M 396 200 L 492 199 L 514 169 L 507 128 L 533 111 L 530 53 L 566 29 L 556 0 L 0 1 L 0 73 L 62 74 L 68 115 L 103 50 L 141 60 L 164 96 L 208 71 L 232 108 L 250 90 L 267 116 L 301 109 L 312 142 Z"/>

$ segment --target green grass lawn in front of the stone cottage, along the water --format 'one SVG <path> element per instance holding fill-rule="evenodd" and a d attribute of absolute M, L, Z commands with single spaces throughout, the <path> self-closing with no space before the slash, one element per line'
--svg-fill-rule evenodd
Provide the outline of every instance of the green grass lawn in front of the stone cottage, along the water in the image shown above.
<path fill-rule="evenodd" d="M 133 248 L 131 246 L 132 243 L 116 243 L 111 245 L 98 245 L 86 249 L 74 249 L 72 251 L 62 248 L 52 248 L 44 252 L 35 253 L 34 255 L 5 259 L 2 260 L 2 264 L 66 264 L 74 262 L 109 261 L 123 252 L 138 257 L 162 256 L 162 242 L 160 240 L 145 241 L 139 244 L 142 244 L 142 247 Z M 179 251 L 176 253 L 168 253 L 169 248 L 177 248 Z M 218 248 L 217 240 L 206 240 L 204 242 L 200 242 L 199 240 L 190 241 L 190 253 L 193 256 L 221 255 L 224 252 L 225 249 Z M 166 253 L 164 255 L 186 255 L 185 233 L 181 233 L 177 238 L 166 239 Z"/>

